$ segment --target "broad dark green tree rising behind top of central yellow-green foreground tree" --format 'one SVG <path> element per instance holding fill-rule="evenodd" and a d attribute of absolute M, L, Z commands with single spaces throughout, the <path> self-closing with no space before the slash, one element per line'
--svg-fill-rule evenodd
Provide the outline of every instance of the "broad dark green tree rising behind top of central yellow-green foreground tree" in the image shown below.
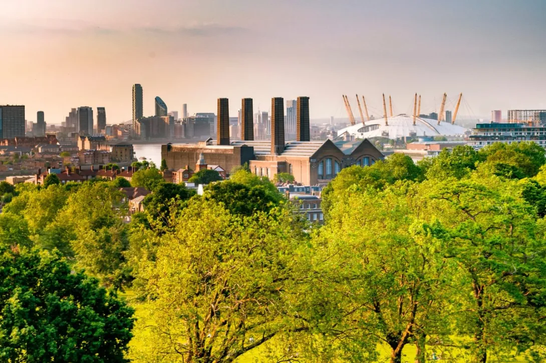
<path fill-rule="evenodd" d="M 269 212 L 278 205 L 278 198 L 269 195 L 261 186 L 252 188 L 226 180 L 206 187 L 203 197 L 222 203 L 233 214 L 251 216 L 258 212 Z"/>

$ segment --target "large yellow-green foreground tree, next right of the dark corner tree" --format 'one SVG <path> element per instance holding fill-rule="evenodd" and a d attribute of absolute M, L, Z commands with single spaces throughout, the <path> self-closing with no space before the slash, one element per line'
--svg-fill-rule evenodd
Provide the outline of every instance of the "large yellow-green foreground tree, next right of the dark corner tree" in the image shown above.
<path fill-rule="evenodd" d="M 254 218 L 192 200 L 162 237 L 138 280 L 149 293 L 139 319 L 134 362 L 232 362 L 290 332 L 296 318 L 299 260 L 305 238 L 288 209 Z"/>

